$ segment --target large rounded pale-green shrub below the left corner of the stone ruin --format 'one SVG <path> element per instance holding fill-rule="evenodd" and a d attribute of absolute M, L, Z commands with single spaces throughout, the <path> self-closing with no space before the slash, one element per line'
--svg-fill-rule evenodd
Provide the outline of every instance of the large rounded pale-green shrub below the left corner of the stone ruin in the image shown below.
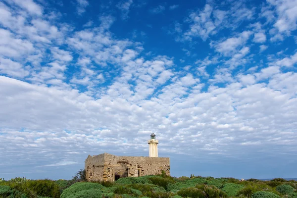
<path fill-rule="evenodd" d="M 61 194 L 60 198 L 72 198 L 74 194 L 80 191 L 85 191 L 85 190 L 91 190 L 91 189 L 97 189 L 97 193 L 100 192 L 102 193 L 101 189 L 104 189 L 101 184 L 96 184 L 96 183 L 91 183 L 91 182 L 78 182 L 73 185 L 71 185 L 69 188 L 65 189 L 63 193 Z"/>

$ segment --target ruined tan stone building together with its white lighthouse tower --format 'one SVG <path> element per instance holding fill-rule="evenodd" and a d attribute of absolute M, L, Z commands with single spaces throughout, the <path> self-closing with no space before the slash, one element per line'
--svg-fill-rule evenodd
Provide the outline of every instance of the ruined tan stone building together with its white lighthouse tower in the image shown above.
<path fill-rule="evenodd" d="M 108 153 L 89 155 L 85 161 L 88 181 L 116 181 L 121 177 L 157 175 L 162 171 L 170 175 L 169 157 L 158 157 L 158 140 L 150 135 L 149 157 L 116 156 Z"/>

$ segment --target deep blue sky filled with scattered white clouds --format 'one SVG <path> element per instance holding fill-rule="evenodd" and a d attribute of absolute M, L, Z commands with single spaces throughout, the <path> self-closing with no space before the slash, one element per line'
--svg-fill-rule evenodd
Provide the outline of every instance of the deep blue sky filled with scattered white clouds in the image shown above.
<path fill-rule="evenodd" d="M 297 178 L 297 0 L 2 0 L 0 177 L 89 154 Z"/>

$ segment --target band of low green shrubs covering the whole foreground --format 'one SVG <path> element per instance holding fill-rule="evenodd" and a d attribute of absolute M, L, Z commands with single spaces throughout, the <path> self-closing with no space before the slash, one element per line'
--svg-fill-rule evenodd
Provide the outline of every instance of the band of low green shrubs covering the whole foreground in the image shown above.
<path fill-rule="evenodd" d="M 80 170 L 71 180 L 0 179 L 0 198 L 297 198 L 297 181 L 213 177 L 126 177 L 87 182 Z"/>

